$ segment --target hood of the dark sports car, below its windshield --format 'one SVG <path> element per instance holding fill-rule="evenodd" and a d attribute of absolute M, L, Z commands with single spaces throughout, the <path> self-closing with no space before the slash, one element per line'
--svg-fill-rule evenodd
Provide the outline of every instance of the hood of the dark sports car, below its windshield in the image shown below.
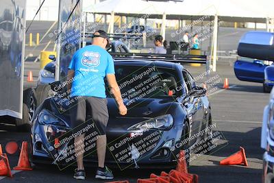
<path fill-rule="evenodd" d="M 61 99 L 60 99 L 61 100 Z M 58 105 L 58 100 L 51 98 L 51 102 L 55 101 L 55 115 L 71 126 L 69 118 L 69 109 L 65 109 L 66 105 Z M 64 101 L 64 103 L 66 103 Z M 125 102 L 127 104 L 127 114 L 122 116 L 119 114 L 119 109 L 116 106 L 116 102 L 112 98 L 108 98 L 108 131 L 111 132 L 125 132 L 129 127 L 141 121 L 153 117 L 159 117 L 164 114 L 169 114 L 169 110 L 173 110 L 174 100 L 172 98 L 166 99 L 138 99 L 135 102 Z M 53 105 L 51 105 L 53 108 Z M 60 109 L 62 108 L 62 109 Z M 57 111 L 66 111 L 62 114 Z"/>

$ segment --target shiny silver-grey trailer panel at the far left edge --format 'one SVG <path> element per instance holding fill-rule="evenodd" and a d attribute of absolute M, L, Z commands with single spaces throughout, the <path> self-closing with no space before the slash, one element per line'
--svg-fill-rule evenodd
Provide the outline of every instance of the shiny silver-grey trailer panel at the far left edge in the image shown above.
<path fill-rule="evenodd" d="M 0 116 L 22 118 L 26 0 L 1 0 Z"/>

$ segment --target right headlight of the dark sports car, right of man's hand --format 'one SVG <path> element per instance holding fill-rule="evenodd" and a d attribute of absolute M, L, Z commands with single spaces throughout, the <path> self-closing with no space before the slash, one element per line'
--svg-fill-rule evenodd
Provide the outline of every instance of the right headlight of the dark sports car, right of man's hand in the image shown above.
<path fill-rule="evenodd" d="M 173 117 L 171 114 L 166 114 L 160 117 L 155 117 L 147 121 L 142 121 L 136 125 L 132 125 L 127 130 L 169 130 L 173 125 Z"/>

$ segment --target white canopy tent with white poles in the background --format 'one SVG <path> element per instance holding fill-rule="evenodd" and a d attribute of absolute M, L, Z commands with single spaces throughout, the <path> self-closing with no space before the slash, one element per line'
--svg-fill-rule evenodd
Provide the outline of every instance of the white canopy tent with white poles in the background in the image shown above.
<path fill-rule="evenodd" d="M 162 19 L 162 36 L 165 34 L 166 19 L 178 20 L 214 20 L 213 69 L 216 71 L 216 46 L 218 20 L 231 22 L 266 23 L 274 18 L 273 0 L 184 0 L 183 2 L 158 2 L 145 0 L 106 0 L 94 6 L 83 8 L 84 12 L 111 14 L 109 32 L 113 33 L 114 15 Z"/>

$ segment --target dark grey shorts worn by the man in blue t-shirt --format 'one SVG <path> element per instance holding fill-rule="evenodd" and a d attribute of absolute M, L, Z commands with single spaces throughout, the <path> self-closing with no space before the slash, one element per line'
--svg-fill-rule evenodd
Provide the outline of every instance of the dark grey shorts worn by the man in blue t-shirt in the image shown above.
<path fill-rule="evenodd" d="M 95 130 L 99 135 L 105 135 L 108 125 L 107 99 L 98 97 L 73 97 L 74 102 L 70 109 L 71 126 L 73 132 L 84 128 L 88 123 L 95 123 Z M 88 117 L 91 117 L 89 119 Z"/>

